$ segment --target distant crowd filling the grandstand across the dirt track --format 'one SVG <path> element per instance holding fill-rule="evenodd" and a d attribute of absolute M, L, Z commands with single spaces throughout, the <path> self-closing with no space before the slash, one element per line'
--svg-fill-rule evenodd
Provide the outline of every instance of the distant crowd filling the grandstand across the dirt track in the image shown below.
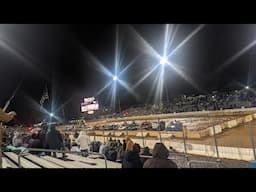
<path fill-rule="evenodd" d="M 213 91 L 205 95 L 180 95 L 161 104 L 141 104 L 123 109 L 122 114 L 102 107 L 91 118 L 106 118 L 120 116 L 139 116 L 150 114 L 190 112 L 202 110 L 234 109 L 241 107 L 256 107 L 255 93 L 249 89 L 232 91 Z M 88 116 L 89 118 L 89 116 Z"/>

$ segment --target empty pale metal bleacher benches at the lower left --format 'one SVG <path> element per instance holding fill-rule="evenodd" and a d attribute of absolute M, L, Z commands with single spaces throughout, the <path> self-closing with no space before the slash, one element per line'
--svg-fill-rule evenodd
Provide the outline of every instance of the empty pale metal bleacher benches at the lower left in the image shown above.
<path fill-rule="evenodd" d="M 120 163 L 108 161 L 104 155 L 94 152 L 89 152 L 89 157 L 83 157 L 79 152 L 61 150 L 15 147 L 9 147 L 8 150 L 11 152 L 3 152 L 3 168 L 121 168 Z M 57 157 L 29 153 L 32 151 L 55 152 Z M 64 159 L 58 158 L 63 154 Z"/>

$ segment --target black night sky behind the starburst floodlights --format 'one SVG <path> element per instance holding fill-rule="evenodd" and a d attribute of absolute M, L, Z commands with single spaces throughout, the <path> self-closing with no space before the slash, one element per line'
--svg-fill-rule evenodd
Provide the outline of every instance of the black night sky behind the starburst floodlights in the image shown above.
<path fill-rule="evenodd" d="M 169 51 L 198 26 L 181 24 Z M 0 106 L 4 106 L 22 81 L 8 111 L 17 112 L 18 122 L 39 122 L 45 116 L 38 106 L 47 84 L 50 101 L 46 101 L 45 107 L 50 110 L 52 102 L 53 107 L 58 108 L 69 101 L 64 107 L 66 118 L 78 118 L 83 97 L 95 96 L 111 80 L 101 72 L 92 55 L 111 72 L 114 71 L 117 27 L 122 60 L 120 69 L 136 58 L 121 77 L 132 86 L 159 62 L 147 52 L 134 31 L 162 54 L 166 25 L 0 25 Z M 255 32 L 256 25 L 207 24 L 169 58 L 191 77 L 197 88 L 168 68 L 165 70 L 165 85 L 169 97 L 239 89 L 240 83 L 251 85 L 256 72 L 254 46 L 227 67 L 217 69 L 253 42 Z M 153 102 L 149 92 L 154 78 L 152 73 L 135 89 L 139 95 L 137 99 L 126 89 L 118 88 L 121 107 Z M 106 99 L 109 89 L 97 97 L 101 106 L 109 105 Z"/>

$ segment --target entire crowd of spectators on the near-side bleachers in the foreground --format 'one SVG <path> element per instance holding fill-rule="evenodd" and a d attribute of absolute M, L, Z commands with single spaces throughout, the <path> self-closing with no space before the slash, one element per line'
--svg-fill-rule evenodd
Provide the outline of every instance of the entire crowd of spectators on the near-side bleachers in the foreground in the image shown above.
<path fill-rule="evenodd" d="M 84 157 L 88 156 L 89 151 L 97 152 L 104 154 L 107 160 L 121 163 L 122 168 L 177 167 L 173 161 L 168 159 L 169 151 L 162 143 L 156 143 L 151 153 L 148 147 L 145 147 L 141 152 L 140 145 L 134 143 L 128 136 L 122 142 L 112 138 L 104 143 L 99 141 L 90 142 L 85 131 L 80 131 L 80 133 L 75 132 L 72 138 L 71 141 L 69 134 L 61 134 L 55 126 L 50 126 L 47 130 L 32 130 L 30 134 L 15 131 L 13 136 L 9 138 L 8 144 L 14 147 L 76 151 Z M 31 151 L 31 153 L 39 156 L 46 154 L 56 157 L 56 153 L 37 151 Z M 141 155 L 143 155 L 143 158 Z M 65 154 L 63 158 L 65 158 Z"/>

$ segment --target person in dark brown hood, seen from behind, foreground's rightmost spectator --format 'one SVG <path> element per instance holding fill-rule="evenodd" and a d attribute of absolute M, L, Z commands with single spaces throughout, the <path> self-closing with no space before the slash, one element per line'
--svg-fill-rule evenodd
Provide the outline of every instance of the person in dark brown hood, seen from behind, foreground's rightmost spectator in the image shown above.
<path fill-rule="evenodd" d="M 152 159 L 146 160 L 143 168 L 178 168 L 176 163 L 168 159 L 169 151 L 163 143 L 155 144 L 152 156 Z"/>

